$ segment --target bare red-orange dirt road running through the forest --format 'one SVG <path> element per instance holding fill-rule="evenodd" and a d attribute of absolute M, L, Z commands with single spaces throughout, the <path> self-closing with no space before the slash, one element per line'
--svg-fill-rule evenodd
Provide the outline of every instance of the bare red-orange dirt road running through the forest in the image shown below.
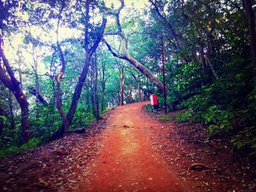
<path fill-rule="evenodd" d="M 188 191 L 165 160 L 152 149 L 146 127 L 154 120 L 143 115 L 147 102 L 117 107 L 102 139 L 100 155 L 89 163 L 79 191 Z"/>

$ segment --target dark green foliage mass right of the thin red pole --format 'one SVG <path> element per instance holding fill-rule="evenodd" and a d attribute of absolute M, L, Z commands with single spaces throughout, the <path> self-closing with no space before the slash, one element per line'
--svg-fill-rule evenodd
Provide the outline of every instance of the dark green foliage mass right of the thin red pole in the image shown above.
<path fill-rule="evenodd" d="M 184 110 L 176 120 L 201 122 L 211 136 L 228 135 L 225 138 L 235 147 L 256 157 L 255 66 L 249 55 L 246 19 L 237 3 L 189 0 L 181 7 L 176 0 L 159 1 L 158 8 L 168 15 L 162 25 L 171 23 L 176 34 L 184 37 L 173 41 L 178 50 L 165 45 L 170 57 L 167 104 L 170 110 Z M 159 34 L 161 29 L 173 35 L 170 28 L 161 28 L 156 9 L 150 16 L 154 26 L 148 31 Z"/>

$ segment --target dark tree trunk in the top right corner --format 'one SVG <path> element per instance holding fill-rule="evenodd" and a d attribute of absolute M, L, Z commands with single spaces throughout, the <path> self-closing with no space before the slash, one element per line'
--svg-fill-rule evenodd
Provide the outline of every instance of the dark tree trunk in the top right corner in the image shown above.
<path fill-rule="evenodd" d="M 249 26 L 250 45 L 252 53 L 252 61 L 256 66 L 256 30 L 255 30 L 255 14 L 252 9 L 252 0 L 243 0 L 244 8 L 246 10 L 246 17 Z"/>

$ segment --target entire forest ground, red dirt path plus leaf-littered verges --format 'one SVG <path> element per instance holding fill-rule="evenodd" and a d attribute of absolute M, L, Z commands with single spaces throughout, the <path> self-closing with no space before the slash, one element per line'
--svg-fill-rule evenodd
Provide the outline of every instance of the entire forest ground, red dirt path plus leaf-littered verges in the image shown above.
<path fill-rule="evenodd" d="M 200 125 L 164 123 L 147 102 L 0 160 L 0 191 L 255 191 L 246 158 Z M 170 115 L 175 115 L 171 114 Z"/>

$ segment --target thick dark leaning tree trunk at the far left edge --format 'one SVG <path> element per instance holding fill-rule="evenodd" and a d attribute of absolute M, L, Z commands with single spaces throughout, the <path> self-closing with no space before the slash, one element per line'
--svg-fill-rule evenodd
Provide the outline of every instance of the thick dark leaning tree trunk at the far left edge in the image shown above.
<path fill-rule="evenodd" d="M 15 78 L 15 74 L 12 72 L 12 68 L 4 55 L 4 50 L 2 49 L 1 45 L 3 45 L 3 39 L 0 38 L 0 58 L 4 63 L 9 76 L 7 76 L 7 74 L 4 72 L 4 69 L 1 67 L 0 61 L 0 80 L 7 88 L 9 88 L 10 91 L 12 91 L 18 103 L 20 104 L 21 139 L 25 143 L 30 139 L 29 103 L 26 100 L 26 96 L 23 94 L 23 91 L 20 89 L 20 82 L 18 82 L 18 80 Z"/>

